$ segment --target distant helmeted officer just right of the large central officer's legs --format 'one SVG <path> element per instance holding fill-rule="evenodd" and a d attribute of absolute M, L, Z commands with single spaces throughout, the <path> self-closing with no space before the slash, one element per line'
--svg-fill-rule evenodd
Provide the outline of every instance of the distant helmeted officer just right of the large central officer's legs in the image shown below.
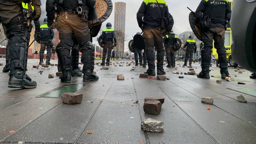
<path fill-rule="evenodd" d="M 163 42 L 165 45 L 165 53 L 168 65 L 166 67 L 175 68 L 175 51 L 174 51 L 174 43 L 177 43 L 177 36 L 173 31 L 164 36 Z"/>

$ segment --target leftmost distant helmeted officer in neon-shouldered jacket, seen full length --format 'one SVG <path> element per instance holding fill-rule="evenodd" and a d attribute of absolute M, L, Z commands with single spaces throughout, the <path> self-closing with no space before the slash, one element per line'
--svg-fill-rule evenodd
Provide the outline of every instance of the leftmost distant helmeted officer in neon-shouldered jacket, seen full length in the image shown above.
<path fill-rule="evenodd" d="M 41 48 L 39 51 L 40 55 L 40 65 L 43 65 L 44 61 L 44 51 L 45 48 L 47 50 L 47 55 L 46 55 L 46 62 L 45 65 L 50 65 L 50 59 L 51 59 L 51 54 L 52 54 L 52 39 L 54 37 L 54 32 L 52 28 L 49 28 L 47 26 L 47 18 L 44 19 L 44 24 L 40 26 L 40 44 Z"/>

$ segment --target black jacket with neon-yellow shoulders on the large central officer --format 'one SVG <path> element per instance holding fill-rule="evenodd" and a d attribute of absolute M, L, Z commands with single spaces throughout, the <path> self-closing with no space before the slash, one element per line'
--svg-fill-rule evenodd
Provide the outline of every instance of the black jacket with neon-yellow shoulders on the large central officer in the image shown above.
<path fill-rule="evenodd" d="M 137 21 L 141 29 L 160 27 L 162 15 L 169 15 L 168 6 L 165 0 L 157 0 L 157 2 L 156 0 L 144 0 L 142 2 L 139 11 L 137 12 Z"/>

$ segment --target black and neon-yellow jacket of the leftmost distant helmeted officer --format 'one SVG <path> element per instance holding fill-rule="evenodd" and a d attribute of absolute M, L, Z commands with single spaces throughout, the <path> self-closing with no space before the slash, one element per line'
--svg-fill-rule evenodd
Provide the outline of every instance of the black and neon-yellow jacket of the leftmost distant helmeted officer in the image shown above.
<path fill-rule="evenodd" d="M 48 41 L 50 39 L 53 39 L 54 32 L 53 29 L 49 28 L 46 23 L 40 26 L 40 38 L 42 41 Z"/>

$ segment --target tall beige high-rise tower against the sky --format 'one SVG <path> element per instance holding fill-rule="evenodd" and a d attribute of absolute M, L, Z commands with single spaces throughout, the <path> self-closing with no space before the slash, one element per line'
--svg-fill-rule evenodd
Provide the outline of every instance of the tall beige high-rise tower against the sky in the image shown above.
<path fill-rule="evenodd" d="M 117 37 L 116 56 L 124 56 L 126 3 L 115 3 L 114 30 Z"/>

